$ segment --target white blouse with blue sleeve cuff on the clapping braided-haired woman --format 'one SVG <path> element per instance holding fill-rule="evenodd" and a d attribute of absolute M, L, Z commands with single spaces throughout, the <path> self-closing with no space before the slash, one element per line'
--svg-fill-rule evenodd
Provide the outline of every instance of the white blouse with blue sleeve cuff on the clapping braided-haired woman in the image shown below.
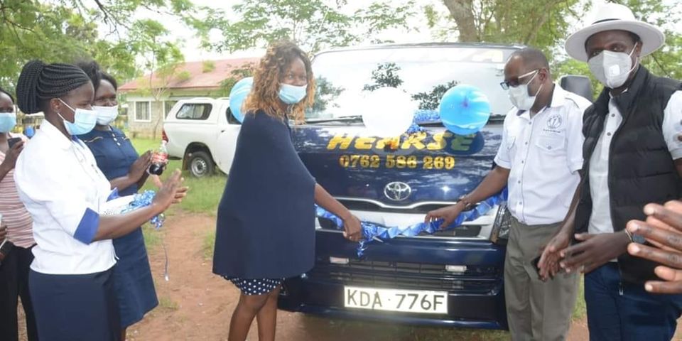
<path fill-rule="evenodd" d="M 111 185 L 82 141 L 44 120 L 21 152 L 14 179 L 33 218 L 33 271 L 93 274 L 114 266 L 112 241 L 92 240 Z"/>

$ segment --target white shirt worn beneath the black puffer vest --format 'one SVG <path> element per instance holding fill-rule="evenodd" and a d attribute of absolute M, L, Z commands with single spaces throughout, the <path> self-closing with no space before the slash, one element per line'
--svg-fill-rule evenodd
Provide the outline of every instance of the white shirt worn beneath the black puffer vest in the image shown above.
<path fill-rule="evenodd" d="M 682 134 L 682 91 L 675 92 L 666 104 L 663 119 L 663 136 L 673 160 L 682 158 L 682 142 L 677 136 Z M 609 112 L 604 121 L 604 130 L 597 140 L 595 151 L 590 158 L 590 195 L 592 196 L 592 215 L 588 232 L 592 234 L 614 231 L 611 220 L 611 200 L 609 193 L 609 150 L 613 134 L 622 124 L 623 116 L 613 97 L 609 100 Z"/>

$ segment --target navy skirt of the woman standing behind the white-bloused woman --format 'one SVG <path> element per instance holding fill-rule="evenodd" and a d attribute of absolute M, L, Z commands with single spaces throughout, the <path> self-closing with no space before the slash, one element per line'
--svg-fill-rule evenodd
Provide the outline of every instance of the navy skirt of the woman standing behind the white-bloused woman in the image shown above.
<path fill-rule="evenodd" d="M 114 266 L 114 286 L 119 301 L 121 329 L 139 322 L 158 305 L 149 269 L 142 229 L 113 240 L 119 261 Z"/>

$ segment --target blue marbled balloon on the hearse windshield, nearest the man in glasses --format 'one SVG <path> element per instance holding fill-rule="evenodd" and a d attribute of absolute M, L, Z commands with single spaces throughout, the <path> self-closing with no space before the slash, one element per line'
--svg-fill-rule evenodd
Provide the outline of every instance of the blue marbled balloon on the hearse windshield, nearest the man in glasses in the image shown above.
<path fill-rule="evenodd" d="M 455 85 L 443 94 L 438 106 L 443 125 L 458 135 L 475 134 L 490 118 L 488 97 L 472 85 Z"/>

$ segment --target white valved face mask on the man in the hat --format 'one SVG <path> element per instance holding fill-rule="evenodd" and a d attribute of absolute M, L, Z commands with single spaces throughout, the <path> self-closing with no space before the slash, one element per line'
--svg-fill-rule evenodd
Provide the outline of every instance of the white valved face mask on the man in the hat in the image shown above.
<path fill-rule="evenodd" d="M 637 63 L 632 65 L 631 58 L 635 48 L 637 48 L 637 44 L 634 45 L 630 53 L 602 51 L 588 60 L 590 72 L 610 89 L 621 87 L 627 81 L 630 72 L 637 67 Z M 637 62 L 639 63 L 639 58 Z"/>

